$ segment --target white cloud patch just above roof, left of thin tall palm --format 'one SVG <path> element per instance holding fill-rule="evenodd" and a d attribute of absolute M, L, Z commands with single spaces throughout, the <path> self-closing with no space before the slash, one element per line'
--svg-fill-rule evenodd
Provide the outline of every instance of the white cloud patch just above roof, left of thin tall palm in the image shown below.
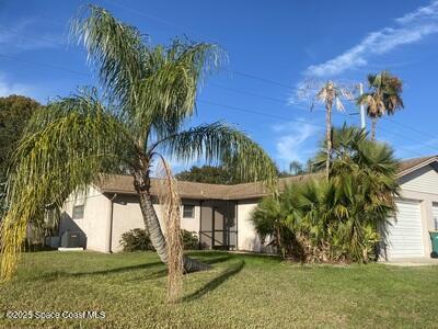
<path fill-rule="evenodd" d="M 306 161 L 315 151 L 314 139 L 321 128 L 297 122 L 275 125 L 272 129 L 278 135 L 275 139 L 276 159 L 280 166 L 288 166 L 292 160 Z M 312 145 L 308 141 L 312 139 Z"/>

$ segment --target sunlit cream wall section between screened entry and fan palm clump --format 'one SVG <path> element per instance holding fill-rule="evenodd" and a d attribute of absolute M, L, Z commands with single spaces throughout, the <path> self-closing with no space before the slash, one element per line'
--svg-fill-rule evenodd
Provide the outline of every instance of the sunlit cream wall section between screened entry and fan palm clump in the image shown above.
<path fill-rule="evenodd" d="M 247 251 L 262 251 L 261 240 L 250 220 L 251 213 L 260 200 L 244 200 L 238 202 L 238 249 Z"/>

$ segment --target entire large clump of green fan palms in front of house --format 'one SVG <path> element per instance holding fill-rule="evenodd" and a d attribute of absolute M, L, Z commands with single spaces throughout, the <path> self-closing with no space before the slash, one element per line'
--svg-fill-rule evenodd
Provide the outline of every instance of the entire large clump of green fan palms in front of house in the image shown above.
<path fill-rule="evenodd" d="M 314 163 L 325 167 L 325 146 Z M 284 258 L 301 262 L 368 262 L 376 259 L 379 228 L 395 212 L 397 161 L 365 132 L 333 131 L 328 179 L 315 175 L 266 197 L 252 220 Z"/>

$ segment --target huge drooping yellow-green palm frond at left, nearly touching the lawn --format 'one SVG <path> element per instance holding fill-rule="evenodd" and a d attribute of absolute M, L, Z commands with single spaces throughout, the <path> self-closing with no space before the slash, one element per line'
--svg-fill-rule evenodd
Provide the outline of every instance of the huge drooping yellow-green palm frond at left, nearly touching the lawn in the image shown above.
<path fill-rule="evenodd" d="M 129 164 L 130 137 L 93 95 L 61 99 L 36 112 L 11 158 L 1 223 L 1 279 L 12 274 L 27 223 L 60 206 L 101 172 Z"/>

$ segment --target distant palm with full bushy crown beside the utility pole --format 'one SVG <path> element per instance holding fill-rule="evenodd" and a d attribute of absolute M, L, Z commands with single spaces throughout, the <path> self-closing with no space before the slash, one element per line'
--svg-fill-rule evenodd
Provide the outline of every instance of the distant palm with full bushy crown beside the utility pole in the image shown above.
<path fill-rule="evenodd" d="M 371 139 L 376 139 L 377 121 L 384 114 L 393 115 L 403 109 L 401 98 L 403 82 L 388 71 L 378 75 L 368 75 L 369 92 L 357 99 L 357 104 L 367 106 L 367 114 L 372 121 Z"/>

